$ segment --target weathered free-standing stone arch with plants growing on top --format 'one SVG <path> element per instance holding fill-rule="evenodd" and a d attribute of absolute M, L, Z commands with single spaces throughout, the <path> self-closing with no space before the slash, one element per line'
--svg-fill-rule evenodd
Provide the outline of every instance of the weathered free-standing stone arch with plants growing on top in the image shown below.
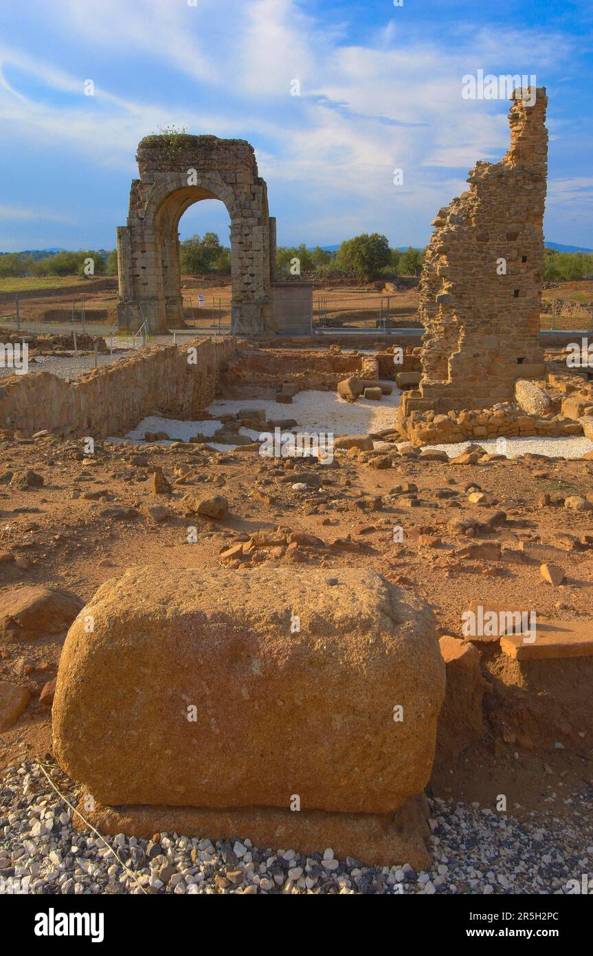
<path fill-rule="evenodd" d="M 270 331 L 276 225 L 253 147 L 215 136 L 148 136 L 138 144 L 127 226 L 117 228 L 117 318 L 152 332 L 183 325 L 179 222 L 202 199 L 219 199 L 230 216 L 231 322 L 247 334 Z"/>

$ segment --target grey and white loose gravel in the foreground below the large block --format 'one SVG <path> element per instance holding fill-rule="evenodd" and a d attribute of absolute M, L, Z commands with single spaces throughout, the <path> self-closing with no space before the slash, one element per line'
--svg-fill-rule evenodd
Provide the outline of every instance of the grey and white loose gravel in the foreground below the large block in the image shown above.
<path fill-rule="evenodd" d="M 48 769 L 71 803 L 77 793 Z M 259 850 L 248 839 L 161 834 L 86 836 L 36 761 L 13 766 L 0 784 L 0 894 L 99 893 L 364 893 L 550 894 L 567 880 L 593 880 L 593 826 L 565 801 L 563 819 L 532 814 L 527 823 L 476 805 L 432 801 L 434 863 L 365 867 L 333 858 L 331 849 L 304 857 L 289 848 Z M 112 849 L 115 852 L 112 853 Z"/>

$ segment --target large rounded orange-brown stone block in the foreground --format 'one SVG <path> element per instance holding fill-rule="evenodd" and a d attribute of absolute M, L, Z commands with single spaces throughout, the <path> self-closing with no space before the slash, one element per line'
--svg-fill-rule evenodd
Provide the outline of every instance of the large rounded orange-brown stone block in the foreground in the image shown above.
<path fill-rule="evenodd" d="M 433 765 L 433 616 L 374 572 L 332 576 L 147 567 L 107 581 L 85 609 L 94 632 L 74 622 L 62 652 L 64 770 L 110 805 L 400 807 Z"/>

